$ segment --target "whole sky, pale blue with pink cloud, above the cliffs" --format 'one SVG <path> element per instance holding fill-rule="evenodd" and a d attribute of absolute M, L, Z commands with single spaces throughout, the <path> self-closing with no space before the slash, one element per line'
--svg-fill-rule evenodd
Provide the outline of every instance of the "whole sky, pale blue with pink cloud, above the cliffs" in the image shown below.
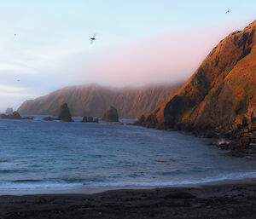
<path fill-rule="evenodd" d="M 185 80 L 255 12 L 255 0 L 0 0 L 0 112 L 65 86 Z"/>

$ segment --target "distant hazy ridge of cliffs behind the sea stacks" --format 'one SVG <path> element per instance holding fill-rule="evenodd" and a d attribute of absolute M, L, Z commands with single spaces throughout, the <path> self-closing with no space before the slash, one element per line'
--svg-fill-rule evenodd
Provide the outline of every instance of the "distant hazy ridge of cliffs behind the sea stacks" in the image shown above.
<path fill-rule="evenodd" d="M 117 108 L 120 118 L 137 118 L 147 114 L 166 101 L 183 84 L 158 84 L 141 88 L 110 88 L 99 85 L 67 87 L 25 101 L 21 114 L 57 115 L 59 107 L 67 102 L 73 116 L 102 117 L 108 106 Z"/>

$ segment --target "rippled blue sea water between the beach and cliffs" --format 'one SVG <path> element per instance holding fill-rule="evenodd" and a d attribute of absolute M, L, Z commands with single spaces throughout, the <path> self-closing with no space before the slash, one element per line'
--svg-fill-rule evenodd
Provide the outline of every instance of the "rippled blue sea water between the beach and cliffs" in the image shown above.
<path fill-rule="evenodd" d="M 0 194 L 161 187 L 256 176 L 207 139 L 125 124 L 0 120 Z"/>

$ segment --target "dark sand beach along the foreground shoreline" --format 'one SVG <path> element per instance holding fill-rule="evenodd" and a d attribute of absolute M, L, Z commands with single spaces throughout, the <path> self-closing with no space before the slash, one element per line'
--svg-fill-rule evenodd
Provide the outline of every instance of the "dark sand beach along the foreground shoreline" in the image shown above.
<path fill-rule="evenodd" d="M 0 197 L 0 218 L 256 218 L 256 181 Z"/>

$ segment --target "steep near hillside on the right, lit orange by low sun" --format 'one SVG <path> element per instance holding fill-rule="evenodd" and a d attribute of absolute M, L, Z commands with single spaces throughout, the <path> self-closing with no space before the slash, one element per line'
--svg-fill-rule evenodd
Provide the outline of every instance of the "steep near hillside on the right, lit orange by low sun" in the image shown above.
<path fill-rule="evenodd" d="M 197 129 L 241 124 L 256 117 L 256 21 L 212 49 L 194 75 L 147 117 L 149 127 Z"/>

